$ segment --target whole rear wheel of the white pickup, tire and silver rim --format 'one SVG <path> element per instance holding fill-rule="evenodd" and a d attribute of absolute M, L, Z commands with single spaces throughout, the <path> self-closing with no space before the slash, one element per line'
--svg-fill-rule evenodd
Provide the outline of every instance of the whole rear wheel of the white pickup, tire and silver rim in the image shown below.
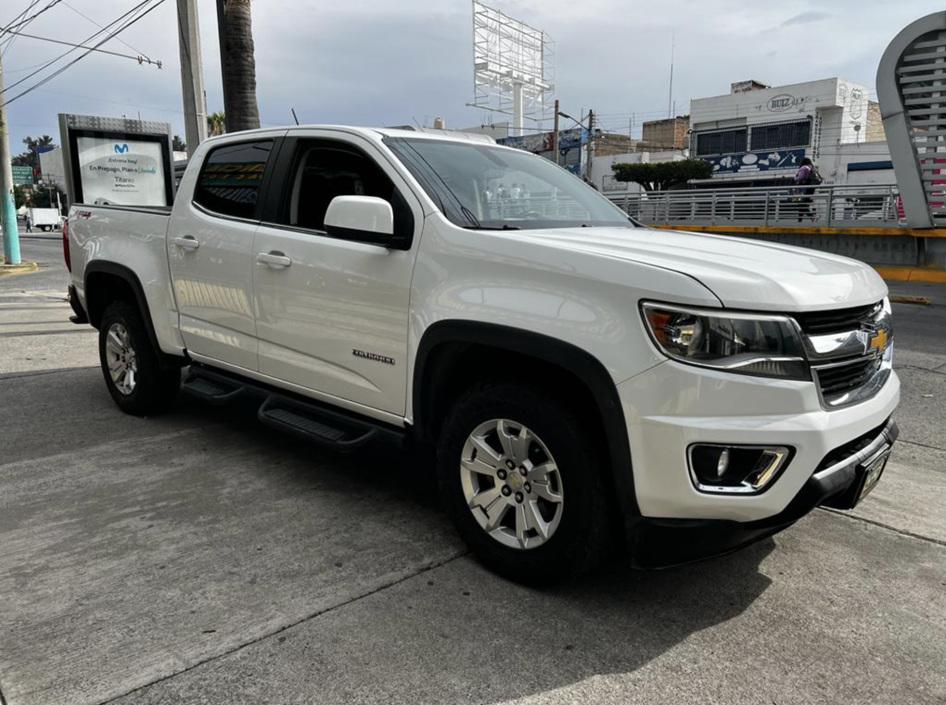
<path fill-rule="evenodd" d="M 165 411 L 181 386 L 181 370 L 161 366 L 144 320 L 127 301 L 110 304 L 98 327 L 98 356 L 115 404 L 135 416 Z"/>

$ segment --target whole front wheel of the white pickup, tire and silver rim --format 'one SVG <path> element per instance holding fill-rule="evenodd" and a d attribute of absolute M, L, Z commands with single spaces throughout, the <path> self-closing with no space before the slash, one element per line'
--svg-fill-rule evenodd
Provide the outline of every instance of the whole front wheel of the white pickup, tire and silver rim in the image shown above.
<path fill-rule="evenodd" d="M 438 446 L 440 486 L 483 564 L 542 585 L 602 559 L 611 514 L 594 438 L 569 406 L 531 387 L 482 385 L 454 404 Z"/>

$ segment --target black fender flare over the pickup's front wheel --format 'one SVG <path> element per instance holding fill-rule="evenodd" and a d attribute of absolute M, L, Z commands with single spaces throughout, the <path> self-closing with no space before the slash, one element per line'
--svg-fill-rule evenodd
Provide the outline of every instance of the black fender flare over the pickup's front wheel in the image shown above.
<path fill-rule="evenodd" d="M 431 324 L 421 336 L 414 357 L 412 382 L 413 426 L 419 438 L 432 440 L 436 420 L 430 410 L 436 395 L 433 377 L 438 367 L 436 351 L 444 344 L 484 346 L 535 358 L 566 371 L 587 388 L 607 446 L 609 473 L 614 481 L 618 507 L 627 519 L 640 516 L 634 490 L 630 441 L 618 387 L 602 362 L 582 348 L 520 328 L 471 320 L 443 320 Z"/>

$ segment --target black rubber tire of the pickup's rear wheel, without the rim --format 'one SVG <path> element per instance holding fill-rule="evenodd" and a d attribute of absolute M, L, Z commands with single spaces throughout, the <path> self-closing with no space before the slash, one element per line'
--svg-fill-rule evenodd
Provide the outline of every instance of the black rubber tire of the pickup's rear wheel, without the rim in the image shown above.
<path fill-rule="evenodd" d="M 135 358 L 134 385 L 130 392 L 123 392 L 112 378 L 107 341 L 113 326 L 127 332 Z M 166 411 L 174 404 L 181 387 L 181 370 L 175 366 L 161 365 L 161 353 L 151 345 L 144 319 L 138 308 L 128 301 L 114 301 L 102 315 L 98 327 L 98 358 L 105 377 L 105 386 L 114 403 L 126 414 L 153 416 Z"/>

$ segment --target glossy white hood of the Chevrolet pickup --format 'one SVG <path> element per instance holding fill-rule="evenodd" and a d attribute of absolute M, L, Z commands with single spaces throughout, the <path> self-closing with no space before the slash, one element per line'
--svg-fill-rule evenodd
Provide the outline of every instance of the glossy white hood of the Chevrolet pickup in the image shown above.
<path fill-rule="evenodd" d="M 566 228 L 517 238 L 689 275 L 724 306 L 767 311 L 845 308 L 880 301 L 884 280 L 862 262 L 814 249 L 702 232 Z"/>

